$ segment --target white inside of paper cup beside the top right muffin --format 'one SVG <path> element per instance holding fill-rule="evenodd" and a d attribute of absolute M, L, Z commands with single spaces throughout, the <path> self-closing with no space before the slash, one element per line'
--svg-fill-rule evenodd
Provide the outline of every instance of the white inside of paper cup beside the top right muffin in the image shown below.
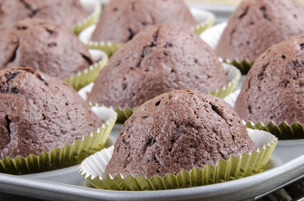
<path fill-rule="evenodd" d="M 225 30 L 226 26 L 227 26 L 227 22 L 222 22 L 220 24 L 217 24 L 207 29 L 203 33 L 201 33 L 200 37 L 203 39 L 203 41 L 206 44 L 208 44 L 212 48 L 212 50 L 215 50 L 218 41 L 223 31 Z"/>

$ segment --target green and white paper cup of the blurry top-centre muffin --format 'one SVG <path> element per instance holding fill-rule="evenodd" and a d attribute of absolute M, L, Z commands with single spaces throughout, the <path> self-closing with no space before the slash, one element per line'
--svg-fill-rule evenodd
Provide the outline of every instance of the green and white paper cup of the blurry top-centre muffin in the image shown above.
<path fill-rule="evenodd" d="M 193 8 L 191 9 L 191 13 L 195 18 L 196 22 L 198 23 L 198 25 L 192 27 L 191 30 L 197 34 L 200 34 L 206 29 L 210 28 L 215 22 L 215 15 L 211 12 Z M 92 41 L 91 37 L 95 29 L 96 25 L 92 25 L 84 29 L 79 34 L 80 41 L 82 41 L 87 46 L 87 48 L 102 50 L 110 57 L 124 45 L 122 43 L 119 44 L 106 41 Z"/>

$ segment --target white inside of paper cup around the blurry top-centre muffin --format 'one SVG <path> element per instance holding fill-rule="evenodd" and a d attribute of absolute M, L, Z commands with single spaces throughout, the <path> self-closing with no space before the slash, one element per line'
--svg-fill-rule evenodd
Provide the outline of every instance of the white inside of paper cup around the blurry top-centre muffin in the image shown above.
<path fill-rule="evenodd" d="M 198 23 L 198 25 L 196 25 L 197 28 L 215 21 L 215 15 L 209 11 L 203 9 L 196 9 L 196 8 L 192 8 L 190 9 L 190 11 L 193 17 L 195 18 L 196 22 Z M 103 44 L 107 44 L 108 46 L 111 46 L 112 44 L 110 42 L 91 41 L 91 37 L 95 29 L 96 29 L 96 25 L 91 25 L 86 29 L 84 29 L 82 32 L 80 32 L 80 34 L 78 35 L 80 41 L 83 42 L 84 44 L 91 46 L 94 44 L 97 46 L 99 43 L 103 43 Z M 195 27 L 191 29 L 194 30 Z"/>

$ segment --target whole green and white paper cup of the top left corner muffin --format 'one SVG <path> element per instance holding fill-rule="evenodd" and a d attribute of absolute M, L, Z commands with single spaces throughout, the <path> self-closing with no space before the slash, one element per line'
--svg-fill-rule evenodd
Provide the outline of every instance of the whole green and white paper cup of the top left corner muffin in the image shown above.
<path fill-rule="evenodd" d="M 101 4 L 97 0 L 80 0 L 80 3 L 90 15 L 72 26 L 72 31 L 77 35 L 85 28 L 96 24 L 101 14 Z"/>

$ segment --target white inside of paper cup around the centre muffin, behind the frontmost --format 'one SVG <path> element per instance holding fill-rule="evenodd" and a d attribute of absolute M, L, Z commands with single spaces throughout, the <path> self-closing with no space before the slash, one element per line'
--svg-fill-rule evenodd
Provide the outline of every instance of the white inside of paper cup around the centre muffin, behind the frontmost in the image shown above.
<path fill-rule="evenodd" d="M 238 68 L 236 68 L 233 65 L 227 64 L 227 63 L 222 63 L 222 66 L 224 68 L 224 71 L 227 75 L 227 78 L 229 80 L 229 83 L 227 86 L 224 86 L 222 88 L 220 88 L 221 90 L 225 90 L 226 87 L 230 87 L 233 84 L 238 84 L 237 82 L 239 82 L 239 78 L 241 77 L 241 72 Z M 239 78 L 238 78 L 239 77 Z M 87 85 L 86 87 L 82 88 L 81 90 L 79 90 L 78 94 L 85 100 L 88 100 L 88 93 L 91 93 L 92 89 L 94 87 L 94 83 L 90 83 L 89 85 Z M 215 91 L 215 93 L 217 93 L 220 89 L 217 89 Z"/>

